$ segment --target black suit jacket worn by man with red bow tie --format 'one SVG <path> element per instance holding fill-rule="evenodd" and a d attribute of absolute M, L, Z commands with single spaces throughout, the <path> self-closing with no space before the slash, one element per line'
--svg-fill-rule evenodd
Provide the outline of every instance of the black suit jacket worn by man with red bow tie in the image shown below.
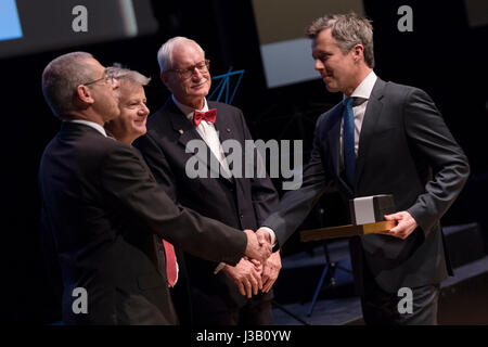
<path fill-rule="evenodd" d="M 243 145 L 244 153 L 244 141 L 252 140 L 252 137 L 242 112 L 223 103 L 209 102 L 208 106 L 217 108 L 215 127 L 219 131 L 220 142 L 236 140 Z M 140 149 L 160 187 L 175 202 L 228 226 L 256 230 L 271 207 L 278 204 L 278 194 L 271 180 L 226 179 L 221 176 L 189 178 L 185 165 L 193 153 L 185 153 L 185 145 L 194 139 L 203 141 L 191 121 L 169 99 L 159 111 L 150 116 L 146 136 L 139 138 L 134 145 Z M 205 147 L 213 156 L 206 144 Z M 209 163 L 208 157 L 207 164 Z M 207 177 L 210 177 L 209 170 Z M 211 246 L 211 249 L 219 252 L 218 246 Z M 192 256 L 185 256 L 185 260 L 193 298 L 198 298 L 200 305 L 218 305 L 226 309 L 229 305 L 239 307 L 246 301 L 235 283 L 222 271 L 214 274 L 218 262 Z"/>

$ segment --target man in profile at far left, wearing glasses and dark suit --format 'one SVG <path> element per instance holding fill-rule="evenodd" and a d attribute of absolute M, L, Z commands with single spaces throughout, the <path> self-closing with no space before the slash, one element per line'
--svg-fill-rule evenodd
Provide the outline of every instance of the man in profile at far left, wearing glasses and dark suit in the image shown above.
<path fill-rule="evenodd" d="M 176 324 L 166 274 L 152 257 L 153 234 L 231 265 L 244 255 L 264 261 L 271 252 L 251 230 L 177 207 L 139 152 L 106 136 L 103 125 L 120 114 L 118 87 L 84 52 L 56 57 L 42 74 L 46 101 L 63 120 L 39 169 L 43 239 L 61 267 L 63 322 Z"/>

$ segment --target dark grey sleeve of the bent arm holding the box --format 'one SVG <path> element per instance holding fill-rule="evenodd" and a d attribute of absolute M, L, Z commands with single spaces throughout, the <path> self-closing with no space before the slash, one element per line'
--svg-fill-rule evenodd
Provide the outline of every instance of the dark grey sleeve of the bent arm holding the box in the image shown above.
<path fill-rule="evenodd" d="M 409 94 L 403 121 L 410 142 L 426 157 L 433 170 L 425 193 L 408 209 L 428 234 L 461 192 L 470 175 L 470 166 L 442 116 L 424 91 L 413 89 Z"/>

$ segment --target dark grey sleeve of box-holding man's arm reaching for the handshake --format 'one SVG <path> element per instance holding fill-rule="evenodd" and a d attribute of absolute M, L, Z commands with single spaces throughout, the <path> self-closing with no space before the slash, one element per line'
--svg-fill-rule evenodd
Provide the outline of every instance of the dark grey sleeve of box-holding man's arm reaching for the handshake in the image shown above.
<path fill-rule="evenodd" d="M 303 183 L 298 190 L 286 192 L 273 213 L 262 222 L 262 227 L 271 228 L 281 247 L 308 216 L 320 196 L 328 190 L 330 180 L 326 177 L 321 157 L 321 120 L 316 126 L 313 147 L 310 160 L 304 168 Z"/>

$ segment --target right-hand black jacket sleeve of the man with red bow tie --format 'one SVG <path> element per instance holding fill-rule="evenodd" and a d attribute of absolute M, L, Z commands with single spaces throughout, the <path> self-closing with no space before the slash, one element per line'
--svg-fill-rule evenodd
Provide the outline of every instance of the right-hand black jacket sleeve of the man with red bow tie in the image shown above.
<path fill-rule="evenodd" d="M 241 127 L 244 130 L 244 140 L 253 140 L 249 129 L 245 123 L 243 114 L 240 112 Z M 257 224 L 261 224 L 271 209 L 278 205 L 278 192 L 266 174 L 266 163 L 259 156 L 258 151 L 254 147 L 254 175 L 249 179 L 251 193 L 253 198 L 253 207 L 256 215 Z M 251 163 L 246 162 L 246 165 Z M 259 175 L 258 175 L 259 174 Z M 261 175 L 262 174 L 262 175 Z M 264 177 L 262 177 L 264 176 Z"/>

